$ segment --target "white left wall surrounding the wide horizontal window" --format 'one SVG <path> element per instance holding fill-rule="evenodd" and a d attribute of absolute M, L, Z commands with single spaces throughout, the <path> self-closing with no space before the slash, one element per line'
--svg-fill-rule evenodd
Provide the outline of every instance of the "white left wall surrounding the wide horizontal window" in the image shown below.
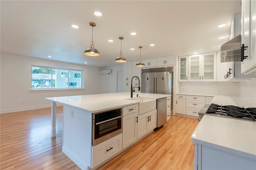
<path fill-rule="evenodd" d="M 84 89 L 30 90 L 32 65 L 83 70 Z M 4 53 L 0 55 L 0 66 L 0 113 L 50 107 L 45 97 L 102 93 L 99 67 Z"/>

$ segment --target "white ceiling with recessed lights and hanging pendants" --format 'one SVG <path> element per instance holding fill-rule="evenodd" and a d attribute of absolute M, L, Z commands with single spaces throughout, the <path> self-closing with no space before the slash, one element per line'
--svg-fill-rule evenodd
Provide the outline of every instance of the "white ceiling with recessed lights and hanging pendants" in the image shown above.
<path fill-rule="evenodd" d="M 240 0 L 213 1 L 12 1 L 1 0 L 1 52 L 100 67 L 168 55 L 220 50 L 228 41 Z M 102 12 L 101 17 L 94 16 Z M 84 55 L 93 41 L 100 56 Z M 78 29 L 71 27 L 79 26 Z M 227 24 L 225 28 L 217 28 Z M 131 36 L 136 32 L 136 36 Z M 218 40 L 218 37 L 226 36 Z M 108 42 L 109 39 L 114 42 Z M 149 45 L 154 43 L 154 47 Z M 130 48 L 135 48 L 134 51 Z M 52 58 L 48 58 L 51 55 Z"/>

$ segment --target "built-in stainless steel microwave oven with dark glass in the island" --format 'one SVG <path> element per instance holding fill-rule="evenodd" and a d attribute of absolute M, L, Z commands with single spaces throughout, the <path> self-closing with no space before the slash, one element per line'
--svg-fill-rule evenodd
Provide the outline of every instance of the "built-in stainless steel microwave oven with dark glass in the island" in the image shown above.
<path fill-rule="evenodd" d="M 92 146 L 122 133 L 122 108 L 93 113 Z"/>

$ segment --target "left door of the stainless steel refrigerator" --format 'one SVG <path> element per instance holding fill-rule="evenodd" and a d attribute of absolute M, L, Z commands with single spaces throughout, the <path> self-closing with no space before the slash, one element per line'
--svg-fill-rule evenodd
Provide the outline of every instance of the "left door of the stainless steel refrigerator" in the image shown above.
<path fill-rule="evenodd" d="M 141 92 L 154 93 L 155 73 L 142 73 Z"/>

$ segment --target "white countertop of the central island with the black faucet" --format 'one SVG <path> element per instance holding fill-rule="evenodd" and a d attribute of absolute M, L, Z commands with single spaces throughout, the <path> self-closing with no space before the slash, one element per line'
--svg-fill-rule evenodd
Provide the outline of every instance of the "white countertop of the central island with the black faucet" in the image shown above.
<path fill-rule="evenodd" d="M 152 94 L 152 93 L 133 93 L 134 98 L 136 94 L 140 97 L 148 99 L 161 99 L 164 97 L 170 97 L 171 95 Z M 139 103 L 138 101 L 126 100 L 130 98 L 130 92 L 121 93 L 103 93 L 95 95 L 78 95 L 78 96 L 64 96 L 64 97 L 47 97 L 46 99 L 61 103 L 62 105 L 70 105 L 86 111 L 96 113 L 105 111 L 108 109 L 115 109 L 118 107 L 124 107 L 132 104 Z"/>

